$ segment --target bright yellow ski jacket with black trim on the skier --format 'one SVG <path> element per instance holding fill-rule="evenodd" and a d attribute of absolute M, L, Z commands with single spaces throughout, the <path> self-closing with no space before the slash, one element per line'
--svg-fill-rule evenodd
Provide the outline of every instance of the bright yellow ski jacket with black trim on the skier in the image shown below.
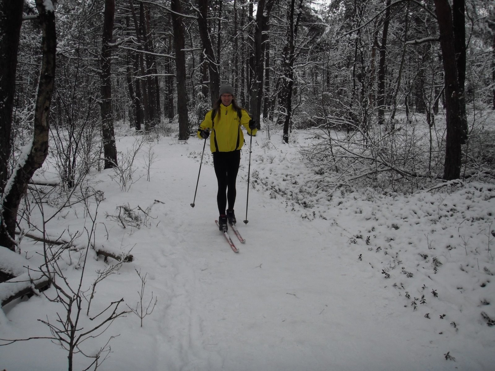
<path fill-rule="evenodd" d="M 210 129 L 210 149 L 211 152 L 230 152 L 241 149 L 244 144 L 244 134 L 241 125 L 247 130 L 247 134 L 256 134 L 256 129 L 249 129 L 249 114 L 241 109 L 242 116 L 239 122 L 239 115 L 232 104 L 224 106 L 220 103 L 220 112 L 217 112 L 213 122 L 211 121 L 211 111 L 204 116 L 204 120 L 199 125 L 198 138 L 204 129 Z"/>

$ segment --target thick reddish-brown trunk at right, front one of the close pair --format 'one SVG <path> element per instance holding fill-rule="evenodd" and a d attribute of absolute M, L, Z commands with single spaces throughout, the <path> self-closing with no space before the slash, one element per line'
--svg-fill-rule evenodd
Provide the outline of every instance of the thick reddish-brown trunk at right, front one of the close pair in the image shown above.
<path fill-rule="evenodd" d="M 466 120 L 462 117 L 463 102 L 459 90 L 459 76 L 455 56 L 454 32 L 452 25 L 452 10 L 448 0 L 435 0 L 438 25 L 440 28 L 440 45 L 442 47 L 445 103 L 446 103 L 446 149 L 444 179 L 453 180 L 460 177 L 461 145 L 466 140 Z"/>

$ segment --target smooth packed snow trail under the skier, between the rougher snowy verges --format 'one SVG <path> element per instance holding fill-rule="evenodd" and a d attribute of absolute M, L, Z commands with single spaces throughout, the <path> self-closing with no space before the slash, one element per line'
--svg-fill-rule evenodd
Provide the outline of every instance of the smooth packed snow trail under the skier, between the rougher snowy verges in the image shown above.
<path fill-rule="evenodd" d="M 343 251 L 349 235 L 338 223 L 310 223 L 279 200 L 250 192 L 249 224 L 238 224 L 248 242 L 233 254 L 211 222 L 217 187 L 208 155 L 190 207 L 198 162 L 184 166 L 179 157 L 200 146 L 194 139 L 176 144 L 160 159 L 151 182 L 166 185 L 151 195 L 164 202 L 153 206 L 160 222 L 137 232 L 147 247 L 135 252 L 136 264 L 153 273 L 160 298 L 149 320 L 159 324 L 156 370 L 428 369 L 430 361 L 418 359 L 410 344 L 427 339 L 395 315 L 400 304 L 376 286 L 374 272 L 349 269 L 355 260 Z M 246 212 L 246 169 L 244 151 L 238 218 Z M 389 332 L 390 321 L 404 331 Z"/>

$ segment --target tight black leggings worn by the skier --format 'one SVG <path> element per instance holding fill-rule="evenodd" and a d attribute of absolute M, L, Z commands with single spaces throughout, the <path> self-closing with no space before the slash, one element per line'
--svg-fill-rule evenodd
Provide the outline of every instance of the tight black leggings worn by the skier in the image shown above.
<path fill-rule="evenodd" d="M 241 163 L 241 150 L 231 152 L 213 152 L 213 167 L 218 182 L 218 213 L 225 214 L 227 201 L 229 209 L 234 209 L 236 202 L 236 178 Z"/>

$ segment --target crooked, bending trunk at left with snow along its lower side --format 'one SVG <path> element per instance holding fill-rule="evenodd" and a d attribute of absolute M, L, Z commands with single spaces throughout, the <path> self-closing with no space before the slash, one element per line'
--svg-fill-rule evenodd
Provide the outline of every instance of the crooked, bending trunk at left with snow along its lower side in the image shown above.
<path fill-rule="evenodd" d="M 34 172 L 39 169 L 48 155 L 49 113 L 55 79 L 56 32 L 55 13 L 49 0 L 36 0 L 40 26 L 43 32 L 43 57 L 38 83 L 38 96 L 34 114 L 33 138 L 31 145 L 25 147 L 25 154 L 10 176 L 8 187 L 1 197 L 0 244 L 15 249 L 15 224 L 17 210 L 22 196 Z"/>

